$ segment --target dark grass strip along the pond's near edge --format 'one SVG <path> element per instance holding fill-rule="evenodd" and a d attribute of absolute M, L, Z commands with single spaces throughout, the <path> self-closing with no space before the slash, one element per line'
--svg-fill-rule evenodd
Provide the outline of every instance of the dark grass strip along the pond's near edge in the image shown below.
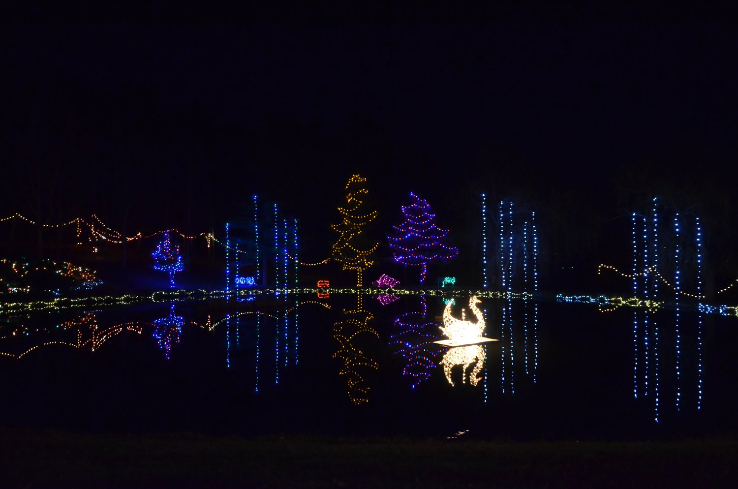
<path fill-rule="evenodd" d="M 0 431 L 3 488 L 728 488 L 738 440 L 484 442 Z"/>

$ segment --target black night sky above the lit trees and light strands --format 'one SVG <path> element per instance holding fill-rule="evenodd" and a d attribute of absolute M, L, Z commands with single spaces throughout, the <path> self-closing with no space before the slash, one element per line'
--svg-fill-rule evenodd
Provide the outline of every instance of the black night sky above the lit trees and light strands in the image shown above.
<path fill-rule="evenodd" d="M 658 194 L 738 244 L 735 18 L 511 4 L 4 7 L 0 214 L 210 232 L 258 193 L 328 246 L 359 172 L 382 226 L 414 191 L 471 233 L 486 191 L 587 241 Z"/>

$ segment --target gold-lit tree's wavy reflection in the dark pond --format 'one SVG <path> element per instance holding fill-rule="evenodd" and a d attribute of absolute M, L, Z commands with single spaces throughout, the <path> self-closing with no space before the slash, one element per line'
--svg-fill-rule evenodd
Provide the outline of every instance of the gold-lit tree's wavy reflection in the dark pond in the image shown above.
<path fill-rule="evenodd" d="M 361 372 L 366 369 L 377 370 L 379 367 L 376 361 L 369 358 L 354 344 L 354 339 L 360 333 L 373 334 L 379 338 L 379 333 L 368 324 L 373 317 L 368 311 L 343 311 L 343 320 L 334 323 L 333 326 L 334 338 L 340 344 L 339 350 L 333 354 L 333 358 L 340 358 L 343 361 L 343 367 L 339 375 L 345 375 L 348 398 L 354 404 L 366 403 L 369 400 L 369 386 L 367 386 Z"/>

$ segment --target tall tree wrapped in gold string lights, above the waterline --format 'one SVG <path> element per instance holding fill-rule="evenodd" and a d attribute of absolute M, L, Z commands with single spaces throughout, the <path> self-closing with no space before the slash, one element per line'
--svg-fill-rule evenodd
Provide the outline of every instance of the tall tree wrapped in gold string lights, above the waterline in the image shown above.
<path fill-rule="evenodd" d="M 341 222 L 332 224 L 331 228 L 339 233 L 337 242 L 333 245 L 333 259 L 341 263 L 344 270 L 356 271 L 356 286 L 362 286 L 363 272 L 373 265 L 370 255 L 376 251 L 379 243 L 368 249 L 362 249 L 359 244 L 365 226 L 376 218 L 376 210 L 365 209 L 362 198 L 368 192 L 364 185 L 366 178 L 353 175 L 346 184 L 345 207 L 339 207 Z"/>

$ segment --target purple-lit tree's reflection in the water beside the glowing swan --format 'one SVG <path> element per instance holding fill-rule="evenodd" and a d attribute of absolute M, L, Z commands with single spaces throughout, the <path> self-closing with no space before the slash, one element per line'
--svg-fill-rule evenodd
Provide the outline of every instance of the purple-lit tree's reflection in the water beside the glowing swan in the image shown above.
<path fill-rule="evenodd" d="M 430 347 L 435 339 L 432 333 L 437 329 L 435 322 L 428 322 L 427 316 L 421 313 L 404 313 L 395 319 L 397 333 L 390 335 L 390 345 L 395 354 L 405 358 L 402 375 L 413 378 L 413 389 L 430 378 L 431 370 L 436 367 L 436 351 Z"/>

